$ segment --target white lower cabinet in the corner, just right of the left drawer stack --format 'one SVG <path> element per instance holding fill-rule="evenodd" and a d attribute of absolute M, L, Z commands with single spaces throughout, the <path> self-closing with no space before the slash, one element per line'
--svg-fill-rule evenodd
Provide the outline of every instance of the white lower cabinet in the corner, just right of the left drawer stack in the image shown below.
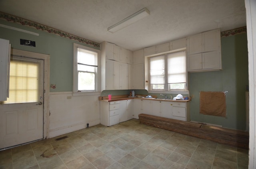
<path fill-rule="evenodd" d="M 125 122 L 133 118 L 132 100 L 120 100 L 119 122 Z"/>

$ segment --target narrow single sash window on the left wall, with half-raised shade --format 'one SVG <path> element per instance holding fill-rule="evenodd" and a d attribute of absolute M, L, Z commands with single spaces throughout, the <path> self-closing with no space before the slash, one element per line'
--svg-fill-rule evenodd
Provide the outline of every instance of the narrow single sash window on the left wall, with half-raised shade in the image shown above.
<path fill-rule="evenodd" d="M 74 92 L 96 92 L 98 50 L 74 43 Z"/>

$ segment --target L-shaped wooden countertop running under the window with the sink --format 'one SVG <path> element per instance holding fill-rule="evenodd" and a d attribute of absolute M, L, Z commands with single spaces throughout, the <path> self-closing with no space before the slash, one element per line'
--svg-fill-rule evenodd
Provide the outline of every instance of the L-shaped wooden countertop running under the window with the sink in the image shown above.
<path fill-rule="evenodd" d="M 164 102 L 189 102 L 191 100 L 170 100 L 170 99 L 162 99 L 162 98 L 156 98 L 156 96 L 152 96 L 153 98 L 145 98 L 145 96 L 135 96 L 130 97 L 129 95 L 118 95 L 118 96 L 112 96 L 111 100 L 108 100 L 108 96 L 99 96 L 99 100 L 103 102 L 114 102 L 114 101 L 120 101 L 120 100 L 130 100 L 130 99 L 142 99 L 142 100 L 156 100 L 156 101 L 164 101 Z"/>

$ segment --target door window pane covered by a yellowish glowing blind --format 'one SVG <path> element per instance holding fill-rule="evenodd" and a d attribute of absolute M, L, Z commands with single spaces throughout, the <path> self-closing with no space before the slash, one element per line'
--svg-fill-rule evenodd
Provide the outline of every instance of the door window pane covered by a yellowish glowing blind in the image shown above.
<path fill-rule="evenodd" d="M 10 61 L 8 103 L 38 102 L 40 64 L 32 61 Z"/>

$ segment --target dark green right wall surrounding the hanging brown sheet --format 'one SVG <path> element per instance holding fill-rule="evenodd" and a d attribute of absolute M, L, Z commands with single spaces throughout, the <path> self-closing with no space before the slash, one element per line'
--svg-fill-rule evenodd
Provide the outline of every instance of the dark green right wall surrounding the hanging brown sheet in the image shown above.
<path fill-rule="evenodd" d="M 248 51 L 246 33 L 221 38 L 222 70 L 189 73 L 191 120 L 246 130 L 245 91 L 248 85 Z M 200 91 L 228 91 L 227 117 L 199 113 Z"/>

